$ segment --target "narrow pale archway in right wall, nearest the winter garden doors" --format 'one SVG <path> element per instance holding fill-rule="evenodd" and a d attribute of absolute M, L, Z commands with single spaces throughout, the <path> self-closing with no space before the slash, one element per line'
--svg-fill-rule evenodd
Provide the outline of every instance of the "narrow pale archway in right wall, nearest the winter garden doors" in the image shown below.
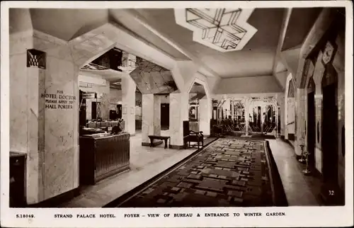
<path fill-rule="evenodd" d="M 285 89 L 285 139 L 295 140 L 295 85 L 292 74 L 287 76 Z"/>

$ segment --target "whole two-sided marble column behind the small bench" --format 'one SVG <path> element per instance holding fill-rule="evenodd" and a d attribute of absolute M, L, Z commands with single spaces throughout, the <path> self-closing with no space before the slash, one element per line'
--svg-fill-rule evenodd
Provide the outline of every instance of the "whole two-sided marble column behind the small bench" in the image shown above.
<path fill-rule="evenodd" d="M 150 146 L 149 135 L 161 135 L 161 96 L 142 94 L 143 146 Z"/>

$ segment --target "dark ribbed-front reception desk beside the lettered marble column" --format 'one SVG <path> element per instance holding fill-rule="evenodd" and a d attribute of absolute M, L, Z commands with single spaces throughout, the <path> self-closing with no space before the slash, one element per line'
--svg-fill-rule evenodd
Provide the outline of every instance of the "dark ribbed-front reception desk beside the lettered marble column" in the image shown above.
<path fill-rule="evenodd" d="M 108 176 L 129 169 L 129 133 L 83 135 L 79 145 L 80 184 L 94 185 Z"/>

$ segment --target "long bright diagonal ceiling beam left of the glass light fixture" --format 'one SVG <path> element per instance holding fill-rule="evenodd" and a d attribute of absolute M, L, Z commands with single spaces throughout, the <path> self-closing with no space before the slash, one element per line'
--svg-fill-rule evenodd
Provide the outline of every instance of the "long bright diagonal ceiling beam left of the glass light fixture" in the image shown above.
<path fill-rule="evenodd" d="M 202 68 L 206 69 L 207 72 L 210 72 L 209 76 L 220 77 L 216 72 L 214 72 L 212 69 L 210 69 L 205 64 L 203 64 L 198 57 L 195 57 L 193 54 L 185 50 L 183 47 L 181 47 L 181 45 L 176 44 L 176 42 L 174 42 L 173 39 L 170 38 L 168 35 L 163 34 L 157 31 L 156 29 L 152 28 L 152 26 L 149 25 L 149 23 L 147 23 L 147 20 L 142 15 L 140 15 L 137 11 L 127 10 L 127 14 L 132 16 L 135 19 L 135 21 L 143 25 L 145 28 L 149 29 L 152 33 L 159 36 L 159 38 L 161 38 L 169 45 L 171 45 L 173 48 L 178 50 L 178 52 L 181 52 L 183 55 L 190 58 L 193 62 L 195 62 L 195 64 L 200 65 Z"/>

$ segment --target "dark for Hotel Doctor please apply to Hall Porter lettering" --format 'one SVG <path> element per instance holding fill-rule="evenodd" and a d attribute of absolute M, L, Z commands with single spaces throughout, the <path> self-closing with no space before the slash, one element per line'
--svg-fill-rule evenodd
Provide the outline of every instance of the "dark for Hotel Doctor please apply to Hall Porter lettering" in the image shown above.
<path fill-rule="evenodd" d="M 46 109 L 72 109 L 76 100 L 76 96 L 66 95 L 62 90 L 57 93 L 42 93 L 40 97 L 45 99 Z"/>

